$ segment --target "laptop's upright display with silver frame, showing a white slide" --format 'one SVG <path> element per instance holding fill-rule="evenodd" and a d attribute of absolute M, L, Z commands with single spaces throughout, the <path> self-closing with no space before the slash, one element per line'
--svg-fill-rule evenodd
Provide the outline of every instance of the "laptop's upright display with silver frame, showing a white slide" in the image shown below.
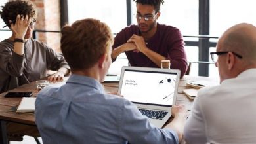
<path fill-rule="evenodd" d="M 179 70 L 123 67 L 118 93 L 133 103 L 173 105 L 179 77 Z"/>

